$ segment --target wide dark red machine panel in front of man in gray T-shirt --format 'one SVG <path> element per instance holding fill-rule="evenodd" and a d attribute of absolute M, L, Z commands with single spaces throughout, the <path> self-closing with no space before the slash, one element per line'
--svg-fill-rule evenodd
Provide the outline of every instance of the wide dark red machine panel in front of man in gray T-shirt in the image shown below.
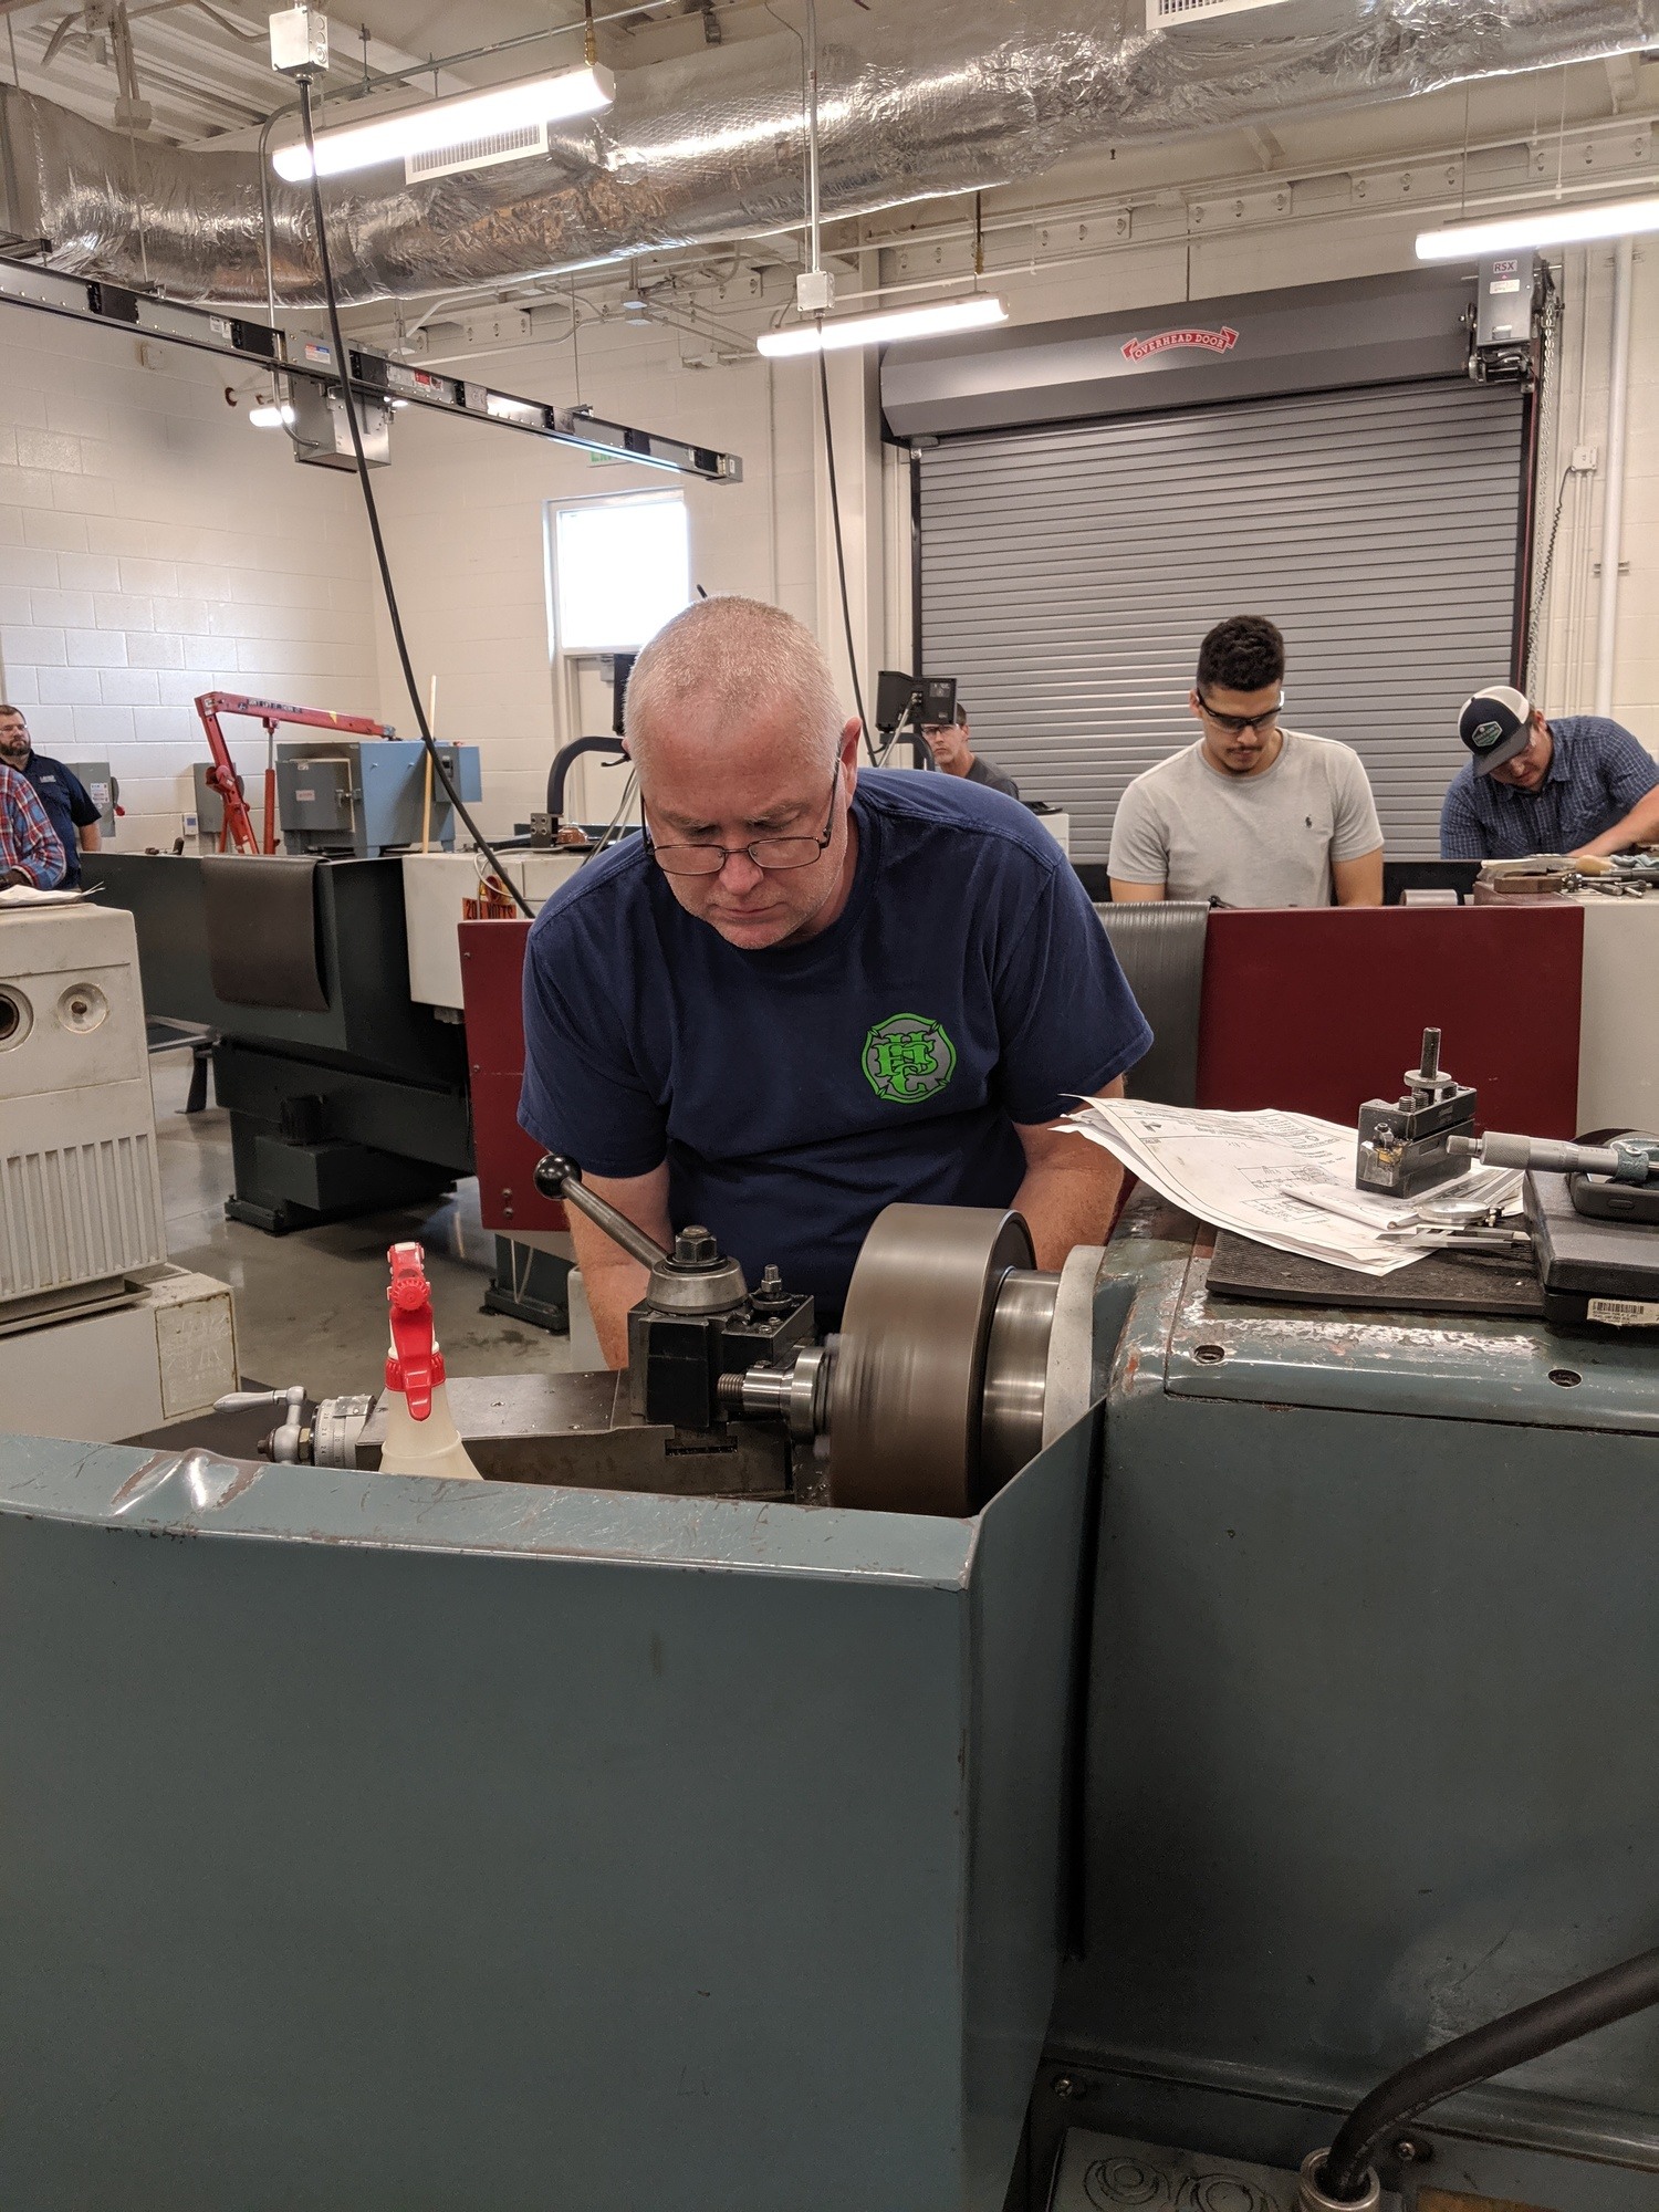
<path fill-rule="evenodd" d="M 1480 1093 L 1480 1128 L 1573 1137 L 1577 907 L 1217 911 L 1203 947 L 1199 1106 L 1354 1121 L 1398 1097 L 1422 1031 Z"/>

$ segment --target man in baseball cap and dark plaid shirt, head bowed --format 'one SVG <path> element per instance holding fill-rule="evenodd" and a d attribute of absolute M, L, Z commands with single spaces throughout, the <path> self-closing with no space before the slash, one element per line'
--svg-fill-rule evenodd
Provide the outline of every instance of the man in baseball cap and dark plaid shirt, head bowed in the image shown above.
<path fill-rule="evenodd" d="M 1659 838 L 1659 761 L 1617 721 L 1546 721 L 1511 684 L 1489 684 L 1458 737 L 1469 763 L 1440 807 L 1442 860 L 1593 858 Z"/>

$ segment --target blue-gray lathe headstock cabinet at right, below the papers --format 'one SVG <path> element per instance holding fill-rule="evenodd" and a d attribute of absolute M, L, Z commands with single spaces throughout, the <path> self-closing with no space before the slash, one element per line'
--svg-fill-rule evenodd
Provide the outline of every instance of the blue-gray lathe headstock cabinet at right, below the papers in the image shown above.
<path fill-rule="evenodd" d="M 1037 2135 L 1294 2168 L 1418 2051 L 1659 1942 L 1659 1349 L 1212 1298 L 1152 1208 L 1110 1267 L 1086 1944 Z M 1652 2208 L 1659 2015 L 1429 2126 L 1442 2188 Z"/>

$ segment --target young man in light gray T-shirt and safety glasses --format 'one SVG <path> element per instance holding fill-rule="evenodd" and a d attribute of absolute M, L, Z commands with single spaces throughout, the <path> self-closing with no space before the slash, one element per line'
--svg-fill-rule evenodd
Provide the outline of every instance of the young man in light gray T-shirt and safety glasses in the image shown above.
<path fill-rule="evenodd" d="M 1285 730 L 1285 639 L 1230 615 L 1199 648 L 1199 743 L 1117 801 L 1113 898 L 1380 907 L 1383 825 L 1352 745 Z"/>

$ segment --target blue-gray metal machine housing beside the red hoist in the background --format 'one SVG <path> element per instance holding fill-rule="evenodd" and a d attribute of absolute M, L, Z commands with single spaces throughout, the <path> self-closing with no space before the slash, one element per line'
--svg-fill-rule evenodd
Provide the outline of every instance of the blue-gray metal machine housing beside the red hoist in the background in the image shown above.
<path fill-rule="evenodd" d="M 482 796 L 478 745 L 438 745 L 471 805 Z M 276 818 L 283 847 L 372 860 L 425 843 L 449 852 L 456 810 L 427 768 L 427 748 L 403 737 L 285 739 L 276 745 Z"/>

